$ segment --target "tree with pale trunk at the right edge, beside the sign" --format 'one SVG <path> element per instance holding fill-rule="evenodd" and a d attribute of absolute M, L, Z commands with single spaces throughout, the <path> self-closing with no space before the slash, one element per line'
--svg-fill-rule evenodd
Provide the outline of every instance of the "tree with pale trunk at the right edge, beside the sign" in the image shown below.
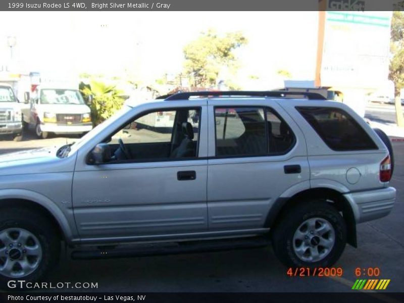
<path fill-rule="evenodd" d="M 391 20 L 391 40 L 389 79 L 394 82 L 394 104 L 397 125 L 404 127 L 402 115 L 400 90 L 404 88 L 404 14 L 399 11 L 393 12 Z"/>

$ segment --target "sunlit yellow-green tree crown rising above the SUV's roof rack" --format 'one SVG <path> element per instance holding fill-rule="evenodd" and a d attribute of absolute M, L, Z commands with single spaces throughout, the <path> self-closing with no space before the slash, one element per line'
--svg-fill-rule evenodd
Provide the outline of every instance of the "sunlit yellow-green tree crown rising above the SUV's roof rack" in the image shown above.
<path fill-rule="evenodd" d="M 195 87 L 215 85 L 219 72 L 226 67 L 235 71 L 237 58 L 234 50 L 247 43 L 241 32 L 229 32 L 223 36 L 208 30 L 184 47 L 184 73 Z"/>

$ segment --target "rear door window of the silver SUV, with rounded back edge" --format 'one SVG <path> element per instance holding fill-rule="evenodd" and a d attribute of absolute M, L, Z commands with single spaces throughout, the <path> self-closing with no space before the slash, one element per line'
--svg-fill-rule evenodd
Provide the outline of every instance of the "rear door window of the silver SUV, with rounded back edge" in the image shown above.
<path fill-rule="evenodd" d="M 269 108 L 215 108 L 216 156 L 285 154 L 294 144 L 289 126 Z"/>

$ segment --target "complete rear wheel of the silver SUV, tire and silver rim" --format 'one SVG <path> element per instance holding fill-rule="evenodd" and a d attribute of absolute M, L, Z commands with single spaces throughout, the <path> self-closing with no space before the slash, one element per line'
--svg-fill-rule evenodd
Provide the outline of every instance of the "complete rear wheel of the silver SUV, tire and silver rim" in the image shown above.
<path fill-rule="evenodd" d="M 326 201 L 300 203 L 290 208 L 275 227 L 275 255 L 288 267 L 330 267 L 345 248 L 345 222 Z"/>

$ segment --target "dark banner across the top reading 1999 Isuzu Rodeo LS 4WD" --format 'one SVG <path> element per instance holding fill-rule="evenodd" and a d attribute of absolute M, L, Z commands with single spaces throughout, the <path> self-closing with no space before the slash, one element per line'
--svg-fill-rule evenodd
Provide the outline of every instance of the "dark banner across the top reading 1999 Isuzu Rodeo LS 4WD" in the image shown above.
<path fill-rule="evenodd" d="M 2 0 L 2 11 L 401 11 L 404 0 Z"/>

